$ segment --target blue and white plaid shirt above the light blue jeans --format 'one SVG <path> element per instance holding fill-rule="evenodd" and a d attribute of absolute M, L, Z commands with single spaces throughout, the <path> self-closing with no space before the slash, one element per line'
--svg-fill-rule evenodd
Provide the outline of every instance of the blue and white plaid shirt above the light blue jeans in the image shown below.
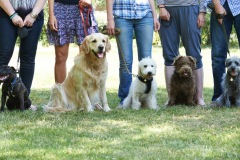
<path fill-rule="evenodd" d="M 151 12 L 148 0 L 114 0 L 113 15 L 124 19 L 141 19 Z"/>

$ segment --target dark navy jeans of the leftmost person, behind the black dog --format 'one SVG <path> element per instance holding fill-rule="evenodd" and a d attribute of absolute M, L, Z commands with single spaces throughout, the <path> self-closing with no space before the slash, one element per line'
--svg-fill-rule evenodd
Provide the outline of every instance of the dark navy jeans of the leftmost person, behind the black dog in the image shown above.
<path fill-rule="evenodd" d="M 38 16 L 28 36 L 20 40 L 20 77 L 30 93 L 32 85 L 37 44 L 43 26 L 43 13 Z M 9 17 L 0 18 L 0 66 L 10 62 L 17 40 L 17 27 L 13 25 Z M 17 65 L 17 61 L 16 61 Z"/>

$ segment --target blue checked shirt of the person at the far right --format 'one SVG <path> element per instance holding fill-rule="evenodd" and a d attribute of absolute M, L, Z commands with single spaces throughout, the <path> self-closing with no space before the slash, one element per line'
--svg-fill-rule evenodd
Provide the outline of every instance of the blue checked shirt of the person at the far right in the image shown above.
<path fill-rule="evenodd" d="M 205 6 L 207 6 L 208 2 L 211 2 L 212 0 L 206 0 Z M 220 3 L 223 5 L 226 2 L 226 0 L 220 0 Z M 233 16 L 237 16 L 240 14 L 240 1 L 239 0 L 227 0 L 228 6 L 232 12 Z"/>

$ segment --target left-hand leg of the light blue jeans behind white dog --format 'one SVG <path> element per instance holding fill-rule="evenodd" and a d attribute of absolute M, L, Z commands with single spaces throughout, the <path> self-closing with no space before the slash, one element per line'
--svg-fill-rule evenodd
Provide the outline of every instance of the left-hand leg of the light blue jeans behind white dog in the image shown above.
<path fill-rule="evenodd" d="M 126 66 L 130 72 L 132 72 L 132 63 L 133 63 L 133 23 L 132 20 L 122 19 L 115 17 L 115 25 L 121 30 L 120 35 L 118 36 L 120 44 L 118 44 L 118 53 L 120 60 L 119 67 L 119 89 L 118 97 L 120 98 L 120 103 L 127 97 L 129 88 L 132 82 L 132 75 L 129 74 L 126 70 Z M 120 49 L 121 47 L 121 49 Z M 121 52 L 122 51 L 122 52 Z M 124 56 L 124 60 L 122 58 Z"/>

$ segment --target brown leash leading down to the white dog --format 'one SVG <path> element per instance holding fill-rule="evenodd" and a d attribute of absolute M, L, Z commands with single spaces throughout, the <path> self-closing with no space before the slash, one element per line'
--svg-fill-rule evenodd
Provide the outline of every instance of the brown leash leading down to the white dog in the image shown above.
<path fill-rule="evenodd" d="M 115 31 L 115 38 L 116 38 L 116 42 L 117 42 L 117 45 L 118 45 L 118 48 L 119 48 L 119 51 L 120 51 L 120 55 L 122 57 L 122 60 L 123 60 L 124 66 L 125 66 L 125 70 L 128 72 L 128 74 L 131 74 L 133 77 L 138 77 L 138 75 L 131 73 L 129 71 L 128 67 L 127 67 L 127 63 L 126 63 L 126 60 L 124 58 L 122 47 L 120 45 L 120 40 L 119 40 L 119 37 L 118 37 L 119 34 L 121 33 L 121 30 L 119 28 L 114 28 L 114 31 Z M 108 35 L 107 26 L 103 26 L 102 33 Z"/>

